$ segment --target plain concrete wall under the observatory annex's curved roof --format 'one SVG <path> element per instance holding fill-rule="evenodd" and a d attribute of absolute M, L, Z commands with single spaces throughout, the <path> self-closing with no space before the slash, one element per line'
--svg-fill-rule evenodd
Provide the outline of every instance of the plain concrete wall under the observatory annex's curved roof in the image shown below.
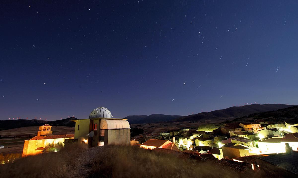
<path fill-rule="evenodd" d="M 105 145 L 130 145 L 130 128 L 125 129 L 106 129 Z"/>

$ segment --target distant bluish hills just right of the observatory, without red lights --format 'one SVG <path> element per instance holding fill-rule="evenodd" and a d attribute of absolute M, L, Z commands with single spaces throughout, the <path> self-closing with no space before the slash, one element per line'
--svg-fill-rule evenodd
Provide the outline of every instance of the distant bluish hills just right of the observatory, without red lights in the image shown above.
<path fill-rule="evenodd" d="M 157 122 L 165 122 L 169 120 L 173 120 L 176 118 L 180 118 L 183 116 L 177 115 L 163 115 L 163 114 L 152 114 L 152 115 L 131 115 L 124 117 L 124 119 L 128 119 L 130 124 L 141 124 L 141 123 L 157 123 Z"/>

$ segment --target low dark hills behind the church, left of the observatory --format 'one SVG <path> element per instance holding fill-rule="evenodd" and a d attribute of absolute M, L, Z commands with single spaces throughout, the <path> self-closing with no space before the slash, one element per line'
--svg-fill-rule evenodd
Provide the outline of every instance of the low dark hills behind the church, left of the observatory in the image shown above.
<path fill-rule="evenodd" d="M 29 127 L 29 126 L 41 126 L 45 123 L 48 123 L 52 126 L 68 126 L 68 127 L 75 127 L 75 122 L 71 120 L 75 120 L 75 117 L 69 117 L 62 120 L 53 120 L 53 121 L 46 121 L 46 120 L 26 120 L 26 119 L 17 119 L 17 120 L 0 120 L 0 130 L 7 130 L 12 128 L 20 128 L 20 127 Z"/>

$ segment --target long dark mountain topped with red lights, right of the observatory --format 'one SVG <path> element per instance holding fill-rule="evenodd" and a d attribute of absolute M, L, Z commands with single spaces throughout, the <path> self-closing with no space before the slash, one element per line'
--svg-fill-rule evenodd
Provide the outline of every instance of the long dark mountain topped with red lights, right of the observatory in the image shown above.
<path fill-rule="evenodd" d="M 275 111 L 291 107 L 287 104 L 251 104 L 242 107 L 229 107 L 211 112 L 201 112 L 195 115 L 180 117 L 169 122 L 201 121 L 215 118 L 239 118 L 258 112 Z"/>

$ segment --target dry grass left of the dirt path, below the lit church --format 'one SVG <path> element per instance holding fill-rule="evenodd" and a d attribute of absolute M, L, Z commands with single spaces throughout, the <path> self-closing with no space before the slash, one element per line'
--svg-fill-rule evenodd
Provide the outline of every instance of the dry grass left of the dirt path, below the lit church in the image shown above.
<path fill-rule="evenodd" d="M 75 166 L 76 156 L 86 151 L 83 145 L 64 147 L 60 152 L 49 152 L 28 156 L 0 166 L 1 177 L 14 178 L 53 178 L 69 177 L 69 171 Z"/>

